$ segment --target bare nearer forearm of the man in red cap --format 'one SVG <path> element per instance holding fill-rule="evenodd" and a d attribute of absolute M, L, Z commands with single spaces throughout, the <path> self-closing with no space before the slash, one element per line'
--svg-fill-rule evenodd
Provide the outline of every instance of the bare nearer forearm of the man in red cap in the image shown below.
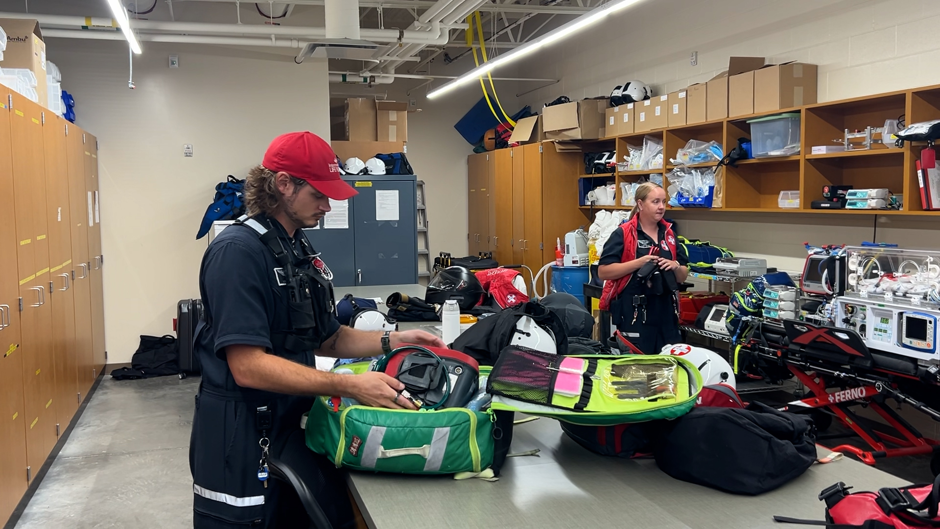
<path fill-rule="evenodd" d="M 351 377 L 317 371 L 253 345 L 229 345 L 226 356 L 235 383 L 243 388 L 292 395 L 346 394 Z"/>

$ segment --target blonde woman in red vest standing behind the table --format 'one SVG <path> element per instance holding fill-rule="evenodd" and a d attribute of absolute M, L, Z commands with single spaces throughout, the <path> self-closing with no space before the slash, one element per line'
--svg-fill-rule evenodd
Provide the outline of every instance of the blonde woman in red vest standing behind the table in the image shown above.
<path fill-rule="evenodd" d="M 598 268 L 604 280 L 601 309 L 648 355 L 682 341 L 678 291 L 689 275 L 688 258 L 663 218 L 667 200 L 657 184 L 637 187 L 630 219 L 603 245 Z"/>

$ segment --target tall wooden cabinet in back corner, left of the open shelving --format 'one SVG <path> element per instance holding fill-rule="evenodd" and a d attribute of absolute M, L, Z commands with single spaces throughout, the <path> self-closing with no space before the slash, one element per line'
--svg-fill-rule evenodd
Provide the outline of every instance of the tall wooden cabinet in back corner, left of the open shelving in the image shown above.
<path fill-rule="evenodd" d="M 555 244 L 587 224 L 576 208 L 579 152 L 556 152 L 552 143 L 533 143 L 488 153 L 486 203 L 472 211 L 491 219 L 493 257 L 499 264 L 525 264 L 533 271 L 555 260 Z M 469 158 L 480 157 L 474 154 Z M 468 168 L 481 162 L 468 159 Z M 468 218 L 471 225 L 479 222 Z M 472 234 L 472 233 L 471 233 Z M 471 247 L 473 248 L 473 247 Z"/>

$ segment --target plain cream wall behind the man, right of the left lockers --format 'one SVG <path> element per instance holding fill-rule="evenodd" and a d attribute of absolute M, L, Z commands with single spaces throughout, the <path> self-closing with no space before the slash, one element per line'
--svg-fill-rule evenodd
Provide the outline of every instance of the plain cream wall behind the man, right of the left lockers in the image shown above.
<path fill-rule="evenodd" d="M 199 297 L 208 238 L 196 240 L 215 184 L 243 178 L 279 134 L 329 137 L 326 64 L 222 48 L 146 43 L 127 88 L 118 42 L 49 39 L 75 96 L 77 124 L 101 145 L 108 362 L 131 360 L 138 335 L 172 332 L 177 301 Z M 180 56 L 180 68 L 167 56 Z M 183 157 L 192 143 L 195 156 Z"/>

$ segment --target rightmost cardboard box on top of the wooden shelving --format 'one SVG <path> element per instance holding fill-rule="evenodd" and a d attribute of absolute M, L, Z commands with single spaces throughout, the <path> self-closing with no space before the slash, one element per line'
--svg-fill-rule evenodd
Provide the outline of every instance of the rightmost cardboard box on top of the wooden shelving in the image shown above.
<path fill-rule="evenodd" d="M 815 64 L 788 62 L 754 72 L 754 112 L 816 103 Z"/>

